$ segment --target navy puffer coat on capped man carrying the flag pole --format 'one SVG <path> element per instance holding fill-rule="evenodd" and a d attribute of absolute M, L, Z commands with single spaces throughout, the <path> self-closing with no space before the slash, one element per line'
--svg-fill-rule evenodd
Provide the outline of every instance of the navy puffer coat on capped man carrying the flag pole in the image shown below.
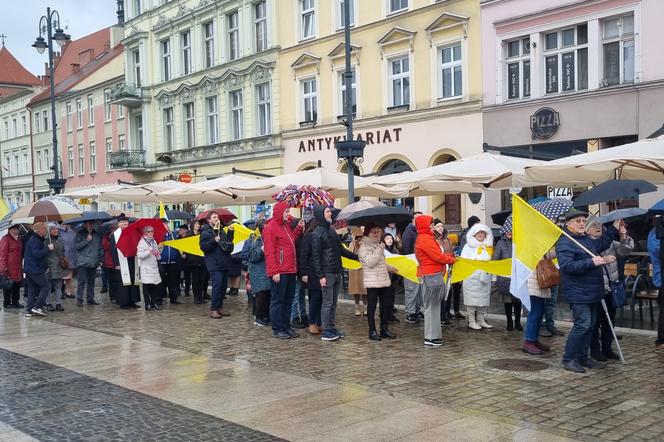
<path fill-rule="evenodd" d="M 607 227 L 601 238 L 592 239 L 567 233 L 596 255 L 608 249 L 618 239 L 618 231 Z M 593 259 L 566 236 L 561 236 L 556 244 L 556 256 L 560 266 L 560 281 L 565 298 L 570 304 L 590 304 L 604 298 L 604 269 L 593 264 Z"/>

